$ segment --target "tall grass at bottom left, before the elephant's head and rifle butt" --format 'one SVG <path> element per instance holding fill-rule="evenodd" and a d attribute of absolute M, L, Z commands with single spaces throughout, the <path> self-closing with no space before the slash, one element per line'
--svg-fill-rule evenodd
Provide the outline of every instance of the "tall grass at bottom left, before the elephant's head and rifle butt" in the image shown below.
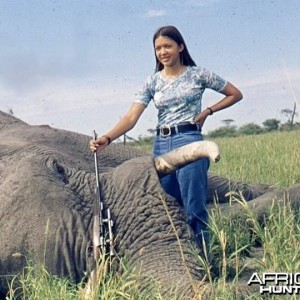
<path fill-rule="evenodd" d="M 34 262 L 28 262 L 23 273 L 15 277 L 18 280 L 17 287 L 11 284 L 9 295 L 6 300 L 162 300 L 160 289 L 149 278 L 149 286 L 140 289 L 140 278 L 142 274 L 136 270 L 129 269 L 124 259 L 118 264 L 122 265 L 121 271 L 108 271 L 109 259 L 104 258 L 99 262 L 97 268 L 97 282 L 87 285 L 86 281 L 74 284 L 68 279 L 61 279 L 51 275 L 45 266 Z M 170 299 L 172 300 L 172 299 Z"/>

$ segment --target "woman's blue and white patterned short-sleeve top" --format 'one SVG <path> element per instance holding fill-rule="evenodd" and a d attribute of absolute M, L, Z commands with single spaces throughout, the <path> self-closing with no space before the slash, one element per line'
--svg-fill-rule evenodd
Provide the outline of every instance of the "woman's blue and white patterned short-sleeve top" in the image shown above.
<path fill-rule="evenodd" d="M 161 72 L 149 76 L 134 102 L 148 106 L 151 100 L 158 109 L 158 126 L 193 122 L 201 112 L 201 100 L 206 88 L 221 92 L 227 81 L 199 66 L 188 66 L 174 80 Z"/>

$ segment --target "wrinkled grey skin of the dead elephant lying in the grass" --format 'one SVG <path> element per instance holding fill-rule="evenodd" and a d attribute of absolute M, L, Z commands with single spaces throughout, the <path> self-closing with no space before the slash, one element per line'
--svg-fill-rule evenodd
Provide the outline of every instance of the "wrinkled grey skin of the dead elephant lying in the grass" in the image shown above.
<path fill-rule="evenodd" d="M 89 269 L 86 250 L 92 240 L 96 186 L 89 140 L 49 126 L 30 126 L 0 112 L 0 297 L 7 292 L 7 275 L 18 274 L 26 258 L 75 282 Z M 202 279 L 189 250 L 193 234 L 182 208 L 162 190 L 152 158 L 112 144 L 98 160 L 101 197 L 112 212 L 117 254 L 127 255 L 130 266 L 142 267 L 142 274 L 153 276 L 166 293 L 175 283 L 179 299 L 193 297 L 192 281 Z M 217 193 L 226 202 L 224 195 L 240 188 L 247 200 L 262 195 L 266 202 L 274 194 L 267 186 L 209 176 L 211 201 Z M 181 240 L 184 262 L 162 198 Z"/>

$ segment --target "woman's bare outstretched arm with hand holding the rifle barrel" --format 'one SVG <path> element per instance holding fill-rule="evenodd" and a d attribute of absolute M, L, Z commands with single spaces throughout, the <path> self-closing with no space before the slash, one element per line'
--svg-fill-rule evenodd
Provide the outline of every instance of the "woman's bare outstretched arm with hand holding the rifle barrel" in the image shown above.
<path fill-rule="evenodd" d="M 102 150 L 113 140 L 131 130 L 137 123 L 145 108 L 146 106 L 144 104 L 133 103 L 126 115 L 121 118 L 113 129 L 98 137 L 96 140 L 90 141 L 90 149 L 92 151 Z"/>

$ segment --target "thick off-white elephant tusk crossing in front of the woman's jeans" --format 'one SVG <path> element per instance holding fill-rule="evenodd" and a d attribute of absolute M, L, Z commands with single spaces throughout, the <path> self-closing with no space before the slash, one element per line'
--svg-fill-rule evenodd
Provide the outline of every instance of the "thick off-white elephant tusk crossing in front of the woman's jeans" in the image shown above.
<path fill-rule="evenodd" d="M 218 145 L 211 141 L 194 142 L 156 157 L 154 165 L 159 174 L 169 174 L 204 157 L 218 162 L 221 158 Z"/>

